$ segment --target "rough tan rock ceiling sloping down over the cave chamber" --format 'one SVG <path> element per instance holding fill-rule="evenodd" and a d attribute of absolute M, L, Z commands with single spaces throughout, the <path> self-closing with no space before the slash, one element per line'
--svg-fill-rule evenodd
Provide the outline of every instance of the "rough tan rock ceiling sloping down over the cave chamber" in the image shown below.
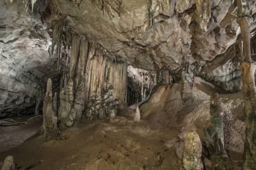
<path fill-rule="evenodd" d="M 234 0 L 52 0 L 68 25 L 110 54 L 149 71 L 177 71 L 184 60 L 204 65 L 232 46 L 240 28 Z M 204 1 L 202 1 L 204 2 Z M 249 0 L 252 35 L 256 2 Z M 208 11 L 207 11 L 208 10 Z M 48 18 L 48 25 L 55 19 Z"/>

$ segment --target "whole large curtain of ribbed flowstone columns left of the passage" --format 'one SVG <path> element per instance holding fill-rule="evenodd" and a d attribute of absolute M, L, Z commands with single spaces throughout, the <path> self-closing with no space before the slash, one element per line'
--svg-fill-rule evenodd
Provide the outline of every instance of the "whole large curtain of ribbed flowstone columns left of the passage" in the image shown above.
<path fill-rule="evenodd" d="M 127 87 L 126 62 L 69 30 L 65 20 L 54 21 L 52 38 L 61 73 L 59 107 L 55 105 L 60 130 L 78 122 L 82 115 L 103 119 L 111 114 L 113 119 L 126 102 Z"/>

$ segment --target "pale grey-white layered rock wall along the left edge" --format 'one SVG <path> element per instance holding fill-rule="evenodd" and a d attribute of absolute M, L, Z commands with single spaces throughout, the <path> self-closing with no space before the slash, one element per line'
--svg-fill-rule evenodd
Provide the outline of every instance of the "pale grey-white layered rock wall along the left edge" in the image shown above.
<path fill-rule="evenodd" d="M 48 28 L 38 13 L 44 8 L 26 14 L 20 0 L 0 0 L 0 8 L 0 117 L 35 112 L 35 102 L 43 99 L 44 75 L 54 64 Z"/>

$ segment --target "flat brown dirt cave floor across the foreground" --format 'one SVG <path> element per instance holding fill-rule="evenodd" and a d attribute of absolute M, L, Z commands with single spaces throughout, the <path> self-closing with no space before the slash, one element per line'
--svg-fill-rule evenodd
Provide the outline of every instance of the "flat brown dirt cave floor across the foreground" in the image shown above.
<path fill-rule="evenodd" d="M 60 140 L 34 136 L 0 153 L 14 157 L 20 170 L 178 170 L 174 147 L 177 129 L 151 130 L 145 120 L 130 117 L 84 121 L 65 130 Z M 13 135 L 17 134 L 12 134 Z"/>

